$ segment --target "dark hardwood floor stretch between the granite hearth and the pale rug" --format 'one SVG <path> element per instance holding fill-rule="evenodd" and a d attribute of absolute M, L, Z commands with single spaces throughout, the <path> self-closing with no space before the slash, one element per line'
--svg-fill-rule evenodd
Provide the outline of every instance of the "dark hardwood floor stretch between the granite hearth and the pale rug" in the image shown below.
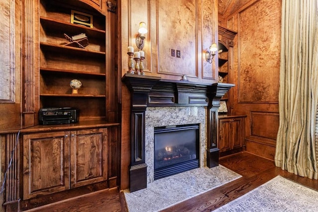
<path fill-rule="evenodd" d="M 311 180 L 283 171 L 276 167 L 273 161 L 247 152 L 240 152 L 235 155 L 220 158 L 219 163 L 239 173 L 242 177 L 170 207 L 164 210 L 164 212 L 209 212 L 246 194 L 277 175 L 318 190 L 317 180 Z"/>

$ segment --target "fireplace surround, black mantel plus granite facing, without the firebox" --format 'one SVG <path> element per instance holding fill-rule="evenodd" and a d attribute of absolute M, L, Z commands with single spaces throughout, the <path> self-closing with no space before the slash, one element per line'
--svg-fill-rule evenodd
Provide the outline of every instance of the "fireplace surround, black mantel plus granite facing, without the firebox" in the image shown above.
<path fill-rule="evenodd" d="M 154 127 L 199 123 L 200 167 L 219 165 L 218 109 L 221 98 L 234 84 L 168 80 L 129 73 L 122 81 L 131 95 L 130 192 L 147 188 L 147 183 L 154 179 L 151 161 Z"/>

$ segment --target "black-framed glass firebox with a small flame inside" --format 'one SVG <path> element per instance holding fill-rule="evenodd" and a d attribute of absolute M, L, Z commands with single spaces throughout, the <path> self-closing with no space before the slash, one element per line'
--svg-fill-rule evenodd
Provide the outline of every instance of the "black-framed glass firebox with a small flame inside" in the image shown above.
<path fill-rule="evenodd" d="M 199 125 L 155 128 L 154 179 L 199 167 Z"/>

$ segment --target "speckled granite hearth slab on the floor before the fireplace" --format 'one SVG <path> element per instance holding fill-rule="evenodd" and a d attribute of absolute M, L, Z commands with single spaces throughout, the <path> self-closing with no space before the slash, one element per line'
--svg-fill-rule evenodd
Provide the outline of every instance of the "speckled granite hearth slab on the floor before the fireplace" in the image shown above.
<path fill-rule="evenodd" d="M 124 191 L 129 212 L 156 212 L 166 209 L 216 187 L 238 179 L 241 175 L 225 168 L 196 168 L 155 180 L 146 189 Z"/>

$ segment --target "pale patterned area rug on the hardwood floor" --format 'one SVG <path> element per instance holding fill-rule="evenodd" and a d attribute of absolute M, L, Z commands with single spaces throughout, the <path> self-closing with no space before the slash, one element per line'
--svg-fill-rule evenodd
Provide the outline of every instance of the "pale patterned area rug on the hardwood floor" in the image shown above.
<path fill-rule="evenodd" d="M 213 212 L 318 212 L 318 192 L 277 176 Z"/>

